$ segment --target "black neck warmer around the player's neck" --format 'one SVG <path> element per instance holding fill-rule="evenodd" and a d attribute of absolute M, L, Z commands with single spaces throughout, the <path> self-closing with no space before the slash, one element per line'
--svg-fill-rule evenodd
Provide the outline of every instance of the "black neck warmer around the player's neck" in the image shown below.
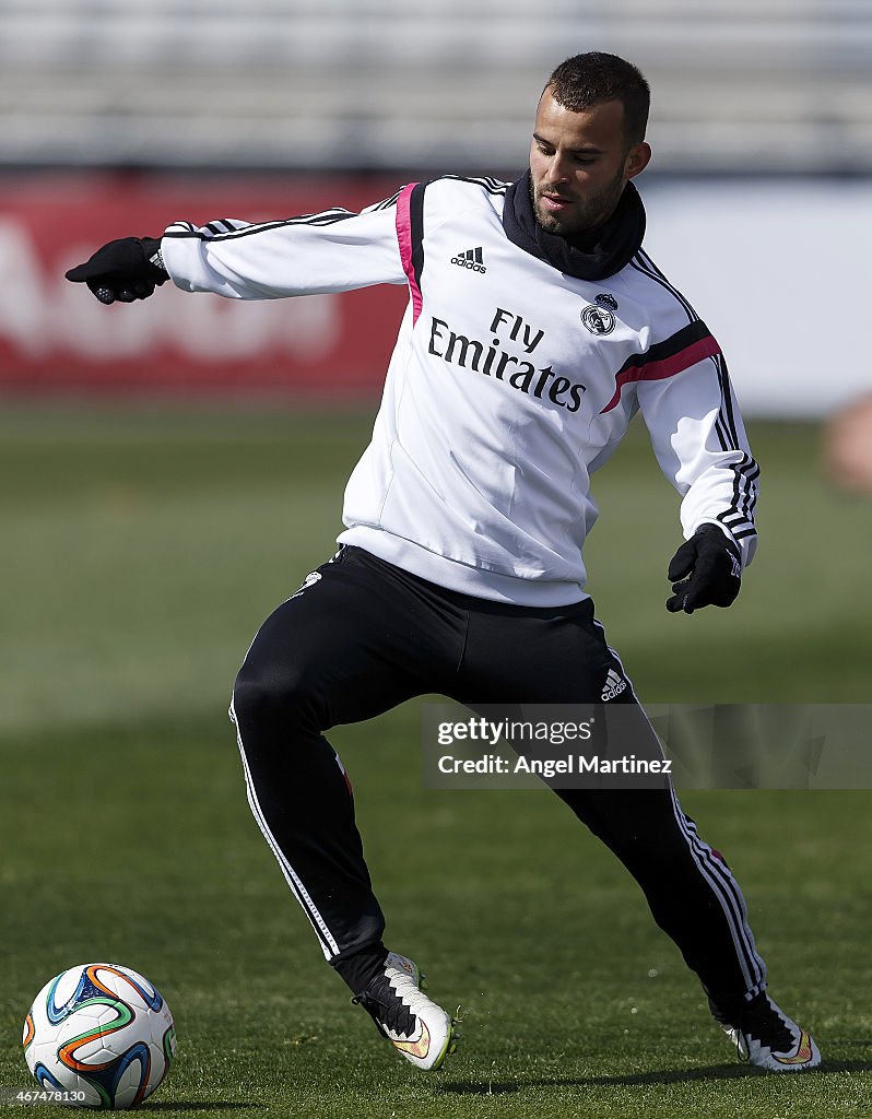
<path fill-rule="evenodd" d="M 536 220 L 529 195 L 529 171 L 506 190 L 503 228 L 513 244 L 576 280 L 606 280 L 620 272 L 639 251 L 645 236 L 645 207 L 628 182 L 620 201 L 597 229 L 580 237 L 546 233 Z"/>

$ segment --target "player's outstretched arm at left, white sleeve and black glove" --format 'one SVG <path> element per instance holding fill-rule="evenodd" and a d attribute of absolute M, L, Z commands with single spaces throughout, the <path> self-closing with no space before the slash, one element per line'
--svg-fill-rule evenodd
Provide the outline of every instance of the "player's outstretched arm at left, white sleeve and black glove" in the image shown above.
<path fill-rule="evenodd" d="M 87 283 L 102 302 L 113 302 L 106 292 L 124 302 L 144 299 L 158 281 L 153 254 L 139 253 L 138 246 L 151 244 L 151 238 L 110 242 L 86 264 L 71 269 L 67 279 Z M 330 209 L 260 225 L 231 218 L 201 227 L 176 222 L 160 238 L 159 251 L 160 265 L 177 288 L 228 299 L 283 299 L 406 282 L 396 198 L 359 214 Z M 150 290 L 148 282 L 138 289 L 140 279 L 151 279 Z M 133 294 L 128 299 L 121 292 Z"/>

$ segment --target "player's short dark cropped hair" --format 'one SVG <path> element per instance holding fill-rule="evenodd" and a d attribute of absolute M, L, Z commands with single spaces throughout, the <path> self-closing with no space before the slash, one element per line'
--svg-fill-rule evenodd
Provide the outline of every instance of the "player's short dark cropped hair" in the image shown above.
<path fill-rule="evenodd" d="M 573 113 L 602 101 L 620 101 L 627 143 L 632 145 L 645 139 L 651 91 L 641 70 L 617 55 L 600 50 L 573 55 L 557 66 L 545 90 L 559 105 Z"/>

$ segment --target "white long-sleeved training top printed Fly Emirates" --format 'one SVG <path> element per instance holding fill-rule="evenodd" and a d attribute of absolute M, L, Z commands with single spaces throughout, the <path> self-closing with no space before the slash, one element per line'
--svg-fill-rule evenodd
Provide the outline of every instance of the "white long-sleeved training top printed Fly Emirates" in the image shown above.
<path fill-rule="evenodd" d="M 519 605 L 585 598 L 590 476 L 640 411 L 690 538 L 756 546 L 757 463 L 720 347 L 644 251 L 587 282 L 510 242 L 506 184 L 453 176 L 363 210 L 171 225 L 184 291 L 281 299 L 405 283 L 410 300 L 339 540 Z"/>

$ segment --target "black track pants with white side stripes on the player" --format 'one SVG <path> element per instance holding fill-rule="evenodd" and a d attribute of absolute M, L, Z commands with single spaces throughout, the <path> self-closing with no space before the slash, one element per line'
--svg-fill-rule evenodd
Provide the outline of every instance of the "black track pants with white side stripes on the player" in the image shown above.
<path fill-rule="evenodd" d="M 315 576 L 318 577 L 315 577 Z M 477 704 L 596 702 L 626 680 L 590 600 L 510 606 L 434 586 L 343 547 L 264 622 L 233 695 L 249 799 L 327 959 L 377 943 L 373 893 L 339 759 L 324 732 L 441 693 Z M 650 733 L 632 689 L 639 733 Z M 744 900 L 665 789 L 561 789 L 645 892 L 655 920 L 720 1005 L 765 986 Z"/>

